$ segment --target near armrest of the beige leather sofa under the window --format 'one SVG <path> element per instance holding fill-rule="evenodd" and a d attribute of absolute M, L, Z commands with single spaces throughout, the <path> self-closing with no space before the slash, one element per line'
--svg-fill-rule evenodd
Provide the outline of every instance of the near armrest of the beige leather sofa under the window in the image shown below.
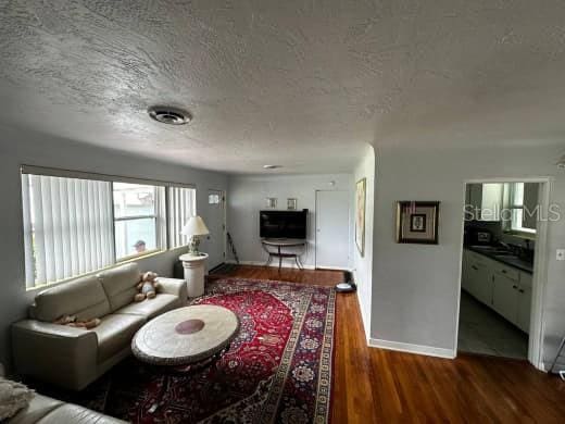
<path fill-rule="evenodd" d="M 16 371 L 73 390 L 97 373 L 98 337 L 83 328 L 25 320 L 12 324 Z"/>

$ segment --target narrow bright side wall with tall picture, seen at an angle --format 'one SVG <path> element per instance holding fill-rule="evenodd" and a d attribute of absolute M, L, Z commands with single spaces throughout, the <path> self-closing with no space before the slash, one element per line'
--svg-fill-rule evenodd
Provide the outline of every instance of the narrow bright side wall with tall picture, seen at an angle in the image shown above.
<path fill-rule="evenodd" d="M 357 284 L 357 298 L 361 307 L 361 315 L 363 317 L 363 326 L 365 327 L 365 336 L 371 335 L 371 298 L 373 285 L 373 221 L 375 207 L 375 150 L 372 146 L 367 146 L 364 157 L 355 166 L 353 173 L 354 182 L 366 178 L 366 199 L 365 199 L 365 252 L 361 253 L 355 245 L 354 225 L 355 225 L 355 190 L 352 195 L 352 227 L 353 227 L 353 275 Z"/>

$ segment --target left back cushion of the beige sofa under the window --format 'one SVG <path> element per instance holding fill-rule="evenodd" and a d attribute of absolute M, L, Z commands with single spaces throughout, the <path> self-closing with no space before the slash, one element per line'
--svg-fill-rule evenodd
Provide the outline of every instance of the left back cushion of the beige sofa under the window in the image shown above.
<path fill-rule="evenodd" d="M 102 317 L 110 313 L 104 289 L 95 275 L 80 277 L 41 291 L 35 298 L 32 314 L 39 321 L 53 322 L 63 315 L 79 321 Z"/>

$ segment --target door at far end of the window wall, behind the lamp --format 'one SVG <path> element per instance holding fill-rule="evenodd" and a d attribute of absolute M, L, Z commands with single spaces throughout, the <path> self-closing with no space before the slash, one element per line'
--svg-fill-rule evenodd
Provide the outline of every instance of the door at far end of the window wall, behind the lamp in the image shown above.
<path fill-rule="evenodd" d="M 205 249 L 209 254 L 208 269 L 224 262 L 225 249 L 225 197 L 222 190 L 208 190 L 206 226 L 210 235 L 206 237 Z"/>

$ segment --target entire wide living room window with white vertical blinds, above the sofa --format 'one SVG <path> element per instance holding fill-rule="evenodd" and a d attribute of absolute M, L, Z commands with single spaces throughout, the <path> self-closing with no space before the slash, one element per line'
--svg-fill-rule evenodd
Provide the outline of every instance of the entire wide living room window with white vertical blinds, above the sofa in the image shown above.
<path fill-rule="evenodd" d="M 188 244 L 179 233 L 196 214 L 194 188 L 123 179 L 22 167 L 27 288 Z"/>

